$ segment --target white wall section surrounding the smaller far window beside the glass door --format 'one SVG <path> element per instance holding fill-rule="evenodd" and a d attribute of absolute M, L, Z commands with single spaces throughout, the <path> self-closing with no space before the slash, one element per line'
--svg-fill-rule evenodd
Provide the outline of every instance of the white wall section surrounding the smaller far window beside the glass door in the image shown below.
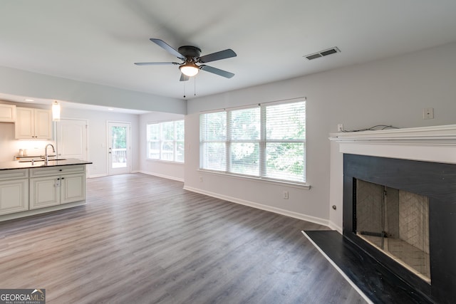
<path fill-rule="evenodd" d="M 175 179 L 184 181 L 184 164 L 173 162 L 162 162 L 152 159 L 146 159 L 147 142 L 146 142 L 146 126 L 150 122 L 165 122 L 170 120 L 182 120 L 184 115 L 151 112 L 140 115 L 140 132 L 139 132 L 139 163 L 140 172 L 152 174 L 158 177 L 167 179 Z"/>

